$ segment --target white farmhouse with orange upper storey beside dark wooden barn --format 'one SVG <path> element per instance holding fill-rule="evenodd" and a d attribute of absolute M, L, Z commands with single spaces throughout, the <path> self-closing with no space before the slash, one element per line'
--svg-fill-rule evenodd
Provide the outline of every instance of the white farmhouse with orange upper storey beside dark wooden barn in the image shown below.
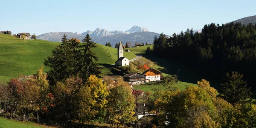
<path fill-rule="evenodd" d="M 152 69 L 148 69 L 145 72 L 143 72 L 143 74 L 146 75 L 146 79 L 147 81 L 160 81 L 163 76 L 162 76 L 162 72 L 155 70 L 154 68 Z"/>

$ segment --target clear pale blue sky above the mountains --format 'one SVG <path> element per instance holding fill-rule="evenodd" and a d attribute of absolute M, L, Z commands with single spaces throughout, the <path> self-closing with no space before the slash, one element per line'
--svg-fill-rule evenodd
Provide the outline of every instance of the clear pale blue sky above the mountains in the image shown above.
<path fill-rule="evenodd" d="M 171 35 L 256 15 L 256 0 L 0 0 L 1 31 L 40 35 L 133 25 Z"/>

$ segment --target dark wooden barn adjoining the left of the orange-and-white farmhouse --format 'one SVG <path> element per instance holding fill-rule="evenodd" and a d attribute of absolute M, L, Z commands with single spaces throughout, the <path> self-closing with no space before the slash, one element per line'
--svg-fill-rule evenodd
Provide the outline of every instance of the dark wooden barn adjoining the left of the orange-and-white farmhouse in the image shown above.
<path fill-rule="evenodd" d="M 124 75 L 124 81 L 129 82 L 133 85 L 138 85 L 142 83 L 146 83 L 146 75 L 142 73 L 129 73 L 127 75 Z"/>

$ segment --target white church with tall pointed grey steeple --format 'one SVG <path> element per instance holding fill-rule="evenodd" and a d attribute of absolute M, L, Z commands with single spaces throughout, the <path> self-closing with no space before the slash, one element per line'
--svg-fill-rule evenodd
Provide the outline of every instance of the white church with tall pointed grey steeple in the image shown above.
<path fill-rule="evenodd" d="M 119 42 L 119 47 L 117 48 L 117 61 L 115 62 L 116 65 L 119 66 L 126 66 L 129 65 L 128 58 L 124 57 L 124 49 L 122 47 L 122 42 Z"/>

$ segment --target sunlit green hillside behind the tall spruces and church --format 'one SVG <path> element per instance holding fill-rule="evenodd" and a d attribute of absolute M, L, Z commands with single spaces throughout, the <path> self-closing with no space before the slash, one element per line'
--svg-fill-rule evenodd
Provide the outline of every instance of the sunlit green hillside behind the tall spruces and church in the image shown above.
<path fill-rule="evenodd" d="M 0 81 L 9 81 L 19 74 L 35 74 L 41 65 L 44 67 L 44 58 L 50 56 L 51 51 L 59 44 L 60 42 L 44 40 L 22 40 L 0 34 Z M 100 64 L 114 64 L 117 59 L 117 50 L 113 47 L 97 44 L 93 51 L 97 53 Z M 124 56 L 128 59 L 136 57 L 128 52 L 125 52 Z M 48 70 L 46 67 L 44 69 Z"/>

